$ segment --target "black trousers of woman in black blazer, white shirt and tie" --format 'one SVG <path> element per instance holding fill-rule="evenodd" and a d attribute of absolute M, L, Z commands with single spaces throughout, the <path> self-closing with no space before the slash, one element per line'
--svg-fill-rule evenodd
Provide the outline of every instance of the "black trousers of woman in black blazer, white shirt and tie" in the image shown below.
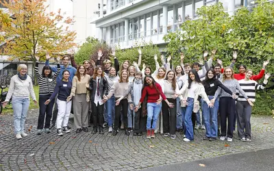
<path fill-rule="evenodd" d="M 103 105 L 97 104 L 93 101 L 91 101 L 92 106 L 92 120 L 93 120 L 93 130 L 97 131 L 97 128 L 99 127 L 99 131 L 103 131 Z"/>

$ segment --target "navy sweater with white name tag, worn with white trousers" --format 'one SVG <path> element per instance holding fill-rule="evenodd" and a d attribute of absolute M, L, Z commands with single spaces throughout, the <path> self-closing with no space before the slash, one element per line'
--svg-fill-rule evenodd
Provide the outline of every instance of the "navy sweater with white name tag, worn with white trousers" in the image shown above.
<path fill-rule="evenodd" d="M 66 98 L 71 95 L 71 87 L 72 83 L 71 81 L 62 81 L 58 80 L 54 89 L 53 94 L 51 94 L 51 97 L 49 98 L 51 101 L 55 98 L 55 96 L 58 94 L 58 99 L 60 101 L 66 101 Z"/>

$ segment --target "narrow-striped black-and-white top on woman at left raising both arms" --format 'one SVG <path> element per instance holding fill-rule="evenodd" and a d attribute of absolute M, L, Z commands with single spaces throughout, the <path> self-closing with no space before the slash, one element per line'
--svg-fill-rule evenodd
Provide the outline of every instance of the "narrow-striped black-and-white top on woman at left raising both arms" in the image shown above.
<path fill-rule="evenodd" d="M 58 67 L 57 71 L 51 78 L 42 77 L 42 75 L 40 75 L 40 73 L 39 73 L 38 65 L 39 65 L 39 63 L 36 62 L 34 71 L 35 71 L 35 75 L 36 75 L 36 77 L 38 79 L 38 83 L 39 83 L 39 95 L 52 94 L 54 91 L 54 87 L 55 87 L 55 79 L 56 79 L 56 77 L 58 77 L 58 75 L 60 73 L 60 64 L 57 64 L 57 67 Z"/>

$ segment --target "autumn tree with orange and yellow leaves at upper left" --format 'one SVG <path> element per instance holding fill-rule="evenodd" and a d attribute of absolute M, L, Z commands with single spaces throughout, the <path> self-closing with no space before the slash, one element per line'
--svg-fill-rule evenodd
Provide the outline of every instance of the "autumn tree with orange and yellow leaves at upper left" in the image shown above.
<path fill-rule="evenodd" d="M 5 5 L 12 21 L 10 25 L 2 25 L 7 42 L 5 53 L 19 60 L 32 60 L 35 56 L 45 56 L 49 53 L 65 53 L 75 47 L 76 33 L 70 31 L 73 18 L 64 18 L 59 10 L 56 14 L 47 13 L 47 0 L 13 0 Z M 0 16 L 1 18 L 1 16 Z M 1 21 L 1 19 L 0 19 Z M 64 24 L 64 25 L 62 25 Z M 60 27 L 58 25 L 61 25 Z"/>

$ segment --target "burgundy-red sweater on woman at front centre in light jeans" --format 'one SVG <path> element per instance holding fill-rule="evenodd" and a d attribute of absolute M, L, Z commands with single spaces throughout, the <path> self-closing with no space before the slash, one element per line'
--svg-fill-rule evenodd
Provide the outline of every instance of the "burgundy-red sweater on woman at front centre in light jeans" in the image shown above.
<path fill-rule="evenodd" d="M 147 103 L 156 103 L 157 100 L 162 96 L 164 100 L 166 100 L 166 96 L 162 92 L 162 88 L 159 83 L 155 83 L 156 88 L 158 88 L 159 92 L 157 92 L 156 88 L 150 87 L 150 86 L 145 86 L 144 90 L 142 90 L 142 96 L 140 98 L 140 103 L 142 103 L 145 99 L 145 96 L 147 96 Z"/>

